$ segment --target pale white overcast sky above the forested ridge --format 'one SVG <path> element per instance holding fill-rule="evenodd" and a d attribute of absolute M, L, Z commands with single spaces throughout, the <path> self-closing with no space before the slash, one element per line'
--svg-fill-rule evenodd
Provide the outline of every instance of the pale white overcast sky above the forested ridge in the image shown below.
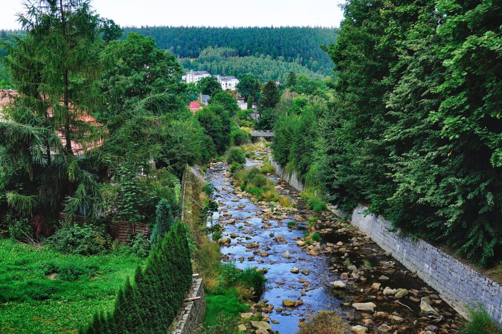
<path fill-rule="evenodd" d="M 92 0 L 120 26 L 339 27 L 343 0 Z M 23 0 L 0 0 L 0 29 L 18 29 Z"/>

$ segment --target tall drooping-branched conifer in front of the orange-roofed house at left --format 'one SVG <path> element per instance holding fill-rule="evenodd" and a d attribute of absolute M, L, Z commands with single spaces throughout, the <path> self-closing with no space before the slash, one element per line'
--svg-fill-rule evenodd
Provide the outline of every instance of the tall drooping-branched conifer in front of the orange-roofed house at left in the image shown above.
<path fill-rule="evenodd" d="M 8 203 L 26 215 L 94 214 L 97 185 L 76 155 L 100 139 L 86 119 L 100 103 L 98 17 L 87 0 L 25 6 L 26 35 L 14 38 L 4 59 L 19 93 L 0 122 Z"/>

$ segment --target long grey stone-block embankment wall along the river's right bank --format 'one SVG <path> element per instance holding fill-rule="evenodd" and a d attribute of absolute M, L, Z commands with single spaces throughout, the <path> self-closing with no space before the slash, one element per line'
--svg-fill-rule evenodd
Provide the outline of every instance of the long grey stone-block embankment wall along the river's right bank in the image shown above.
<path fill-rule="evenodd" d="M 282 166 L 271 160 L 277 174 L 286 182 L 303 191 L 304 186 L 294 173 L 289 174 Z M 414 240 L 392 231 L 392 223 L 374 214 L 365 215 L 366 207 L 358 206 L 352 211 L 351 223 L 366 233 L 383 249 L 427 284 L 436 289 L 441 297 L 457 312 L 466 316 L 466 305 L 484 306 L 491 318 L 502 325 L 502 286 L 484 276 L 468 264 L 424 240 Z M 339 216 L 342 212 L 330 207 Z"/>

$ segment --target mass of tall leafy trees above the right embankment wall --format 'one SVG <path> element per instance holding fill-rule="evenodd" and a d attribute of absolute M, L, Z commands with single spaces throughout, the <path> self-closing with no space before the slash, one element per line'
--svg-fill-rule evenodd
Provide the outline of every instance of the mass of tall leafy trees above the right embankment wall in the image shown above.
<path fill-rule="evenodd" d="M 276 157 L 345 210 L 367 204 L 414 236 L 496 263 L 502 4 L 351 0 L 344 10 L 326 49 L 334 100 L 321 114 L 282 115 Z M 288 136 L 310 143 L 301 163 Z"/>

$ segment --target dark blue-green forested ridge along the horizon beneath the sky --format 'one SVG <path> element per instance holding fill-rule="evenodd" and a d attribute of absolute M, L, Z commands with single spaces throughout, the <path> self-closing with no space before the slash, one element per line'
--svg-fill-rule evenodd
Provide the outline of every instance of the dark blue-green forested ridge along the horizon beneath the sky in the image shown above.
<path fill-rule="evenodd" d="M 130 32 L 152 36 L 158 47 L 171 49 L 183 58 L 197 58 L 209 46 L 229 47 L 238 56 L 270 55 L 273 59 L 282 56 L 286 61 L 298 58 L 301 65 L 313 71 L 318 70 L 316 66 L 332 67 L 319 46 L 334 43 L 338 34 L 335 28 L 320 27 L 125 27 L 123 30 L 122 38 Z"/>

